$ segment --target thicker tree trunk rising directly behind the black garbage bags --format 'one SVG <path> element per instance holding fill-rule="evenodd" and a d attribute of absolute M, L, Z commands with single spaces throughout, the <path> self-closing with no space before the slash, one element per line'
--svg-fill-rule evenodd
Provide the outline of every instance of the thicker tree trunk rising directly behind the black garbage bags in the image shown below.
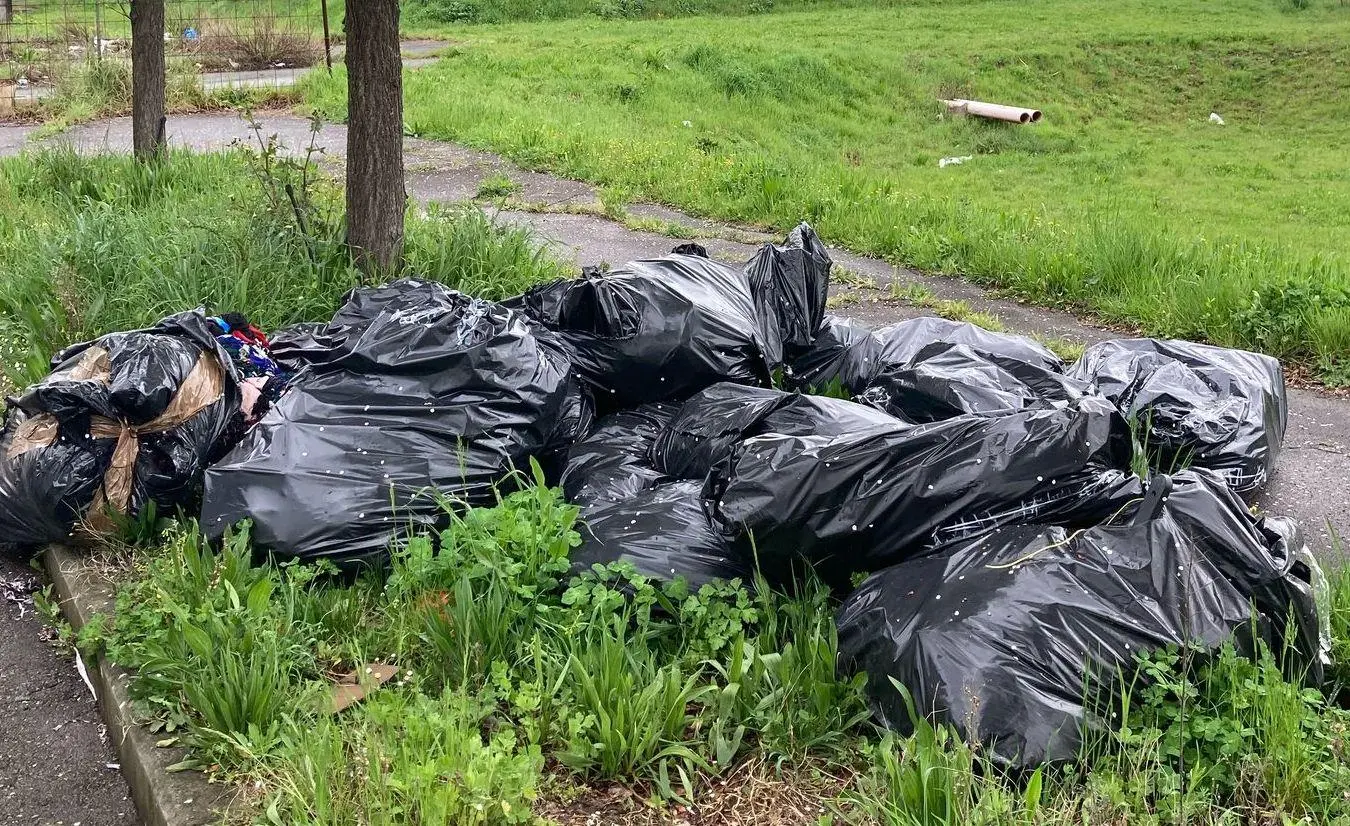
<path fill-rule="evenodd" d="M 366 273 L 404 252 L 404 66 L 398 0 L 348 0 L 347 244 Z"/>

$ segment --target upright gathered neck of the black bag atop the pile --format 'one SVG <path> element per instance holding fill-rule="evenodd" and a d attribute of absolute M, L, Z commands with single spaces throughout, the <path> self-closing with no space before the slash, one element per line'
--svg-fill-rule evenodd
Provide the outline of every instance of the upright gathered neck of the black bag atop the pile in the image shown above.
<path fill-rule="evenodd" d="M 821 329 L 832 266 L 810 224 L 799 224 L 782 246 L 764 244 L 745 265 L 760 317 L 772 320 L 787 358 L 809 350 Z"/>

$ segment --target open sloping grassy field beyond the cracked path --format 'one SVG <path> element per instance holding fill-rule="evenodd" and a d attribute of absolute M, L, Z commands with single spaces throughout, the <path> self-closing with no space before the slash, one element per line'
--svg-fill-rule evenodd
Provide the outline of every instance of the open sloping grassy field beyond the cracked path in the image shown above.
<path fill-rule="evenodd" d="M 1350 5 L 980 0 L 443 30 L 429 138 L 1350 381 Z M 308 99 L 344 116 L 346 78 Z M 1034 127 L 936 99 L 1029 104 Z M 1210 123 L 1218 112 L 1226 126 Z M 960 166 L 940 158 L 973 155 Z"/>

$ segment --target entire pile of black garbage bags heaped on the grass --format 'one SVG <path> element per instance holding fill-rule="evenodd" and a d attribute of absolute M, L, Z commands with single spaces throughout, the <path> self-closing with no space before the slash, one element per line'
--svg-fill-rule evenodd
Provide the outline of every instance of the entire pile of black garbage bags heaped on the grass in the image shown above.
<path fill-rule="evenodd" d="M 813 570 L 880 719 L 909 725 L 895 680 L 1010 767 L 1072 759 L 1102 725 L 1084 687 L 1139 652 L 1254 632 L 1320 679 L 1318 566 L 1241 498 L 1278 456 L 1278 362 L 867 329 L 826 314 L 805 224 L 745 266 L 682 250 L 500 304 L 402 279 L 271 339 L 194 312 L 70 348 L 9 400 L 0 537 L 200 507 L 212 537 L 250 520 L 275 556 L 381 564 L 536 460 L 580 510 L 578 570 Z"/>

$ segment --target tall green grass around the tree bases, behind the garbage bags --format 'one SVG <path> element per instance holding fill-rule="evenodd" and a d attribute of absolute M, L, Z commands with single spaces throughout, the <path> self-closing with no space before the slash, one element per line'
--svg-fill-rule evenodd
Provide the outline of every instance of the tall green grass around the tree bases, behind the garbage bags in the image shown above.
<path fill-rule="evenodd" d="M 360 282 L 340 193 L 258 135 L 150 166 L 68 148 L 0 161 L 0 375 L 27 385 L 66 344 L 198 305 L 267 329 L 331 317 Z M 409 211 L 406 256 L 408 273 L 489 298 L 562 274 L 474 208 Z"/>

